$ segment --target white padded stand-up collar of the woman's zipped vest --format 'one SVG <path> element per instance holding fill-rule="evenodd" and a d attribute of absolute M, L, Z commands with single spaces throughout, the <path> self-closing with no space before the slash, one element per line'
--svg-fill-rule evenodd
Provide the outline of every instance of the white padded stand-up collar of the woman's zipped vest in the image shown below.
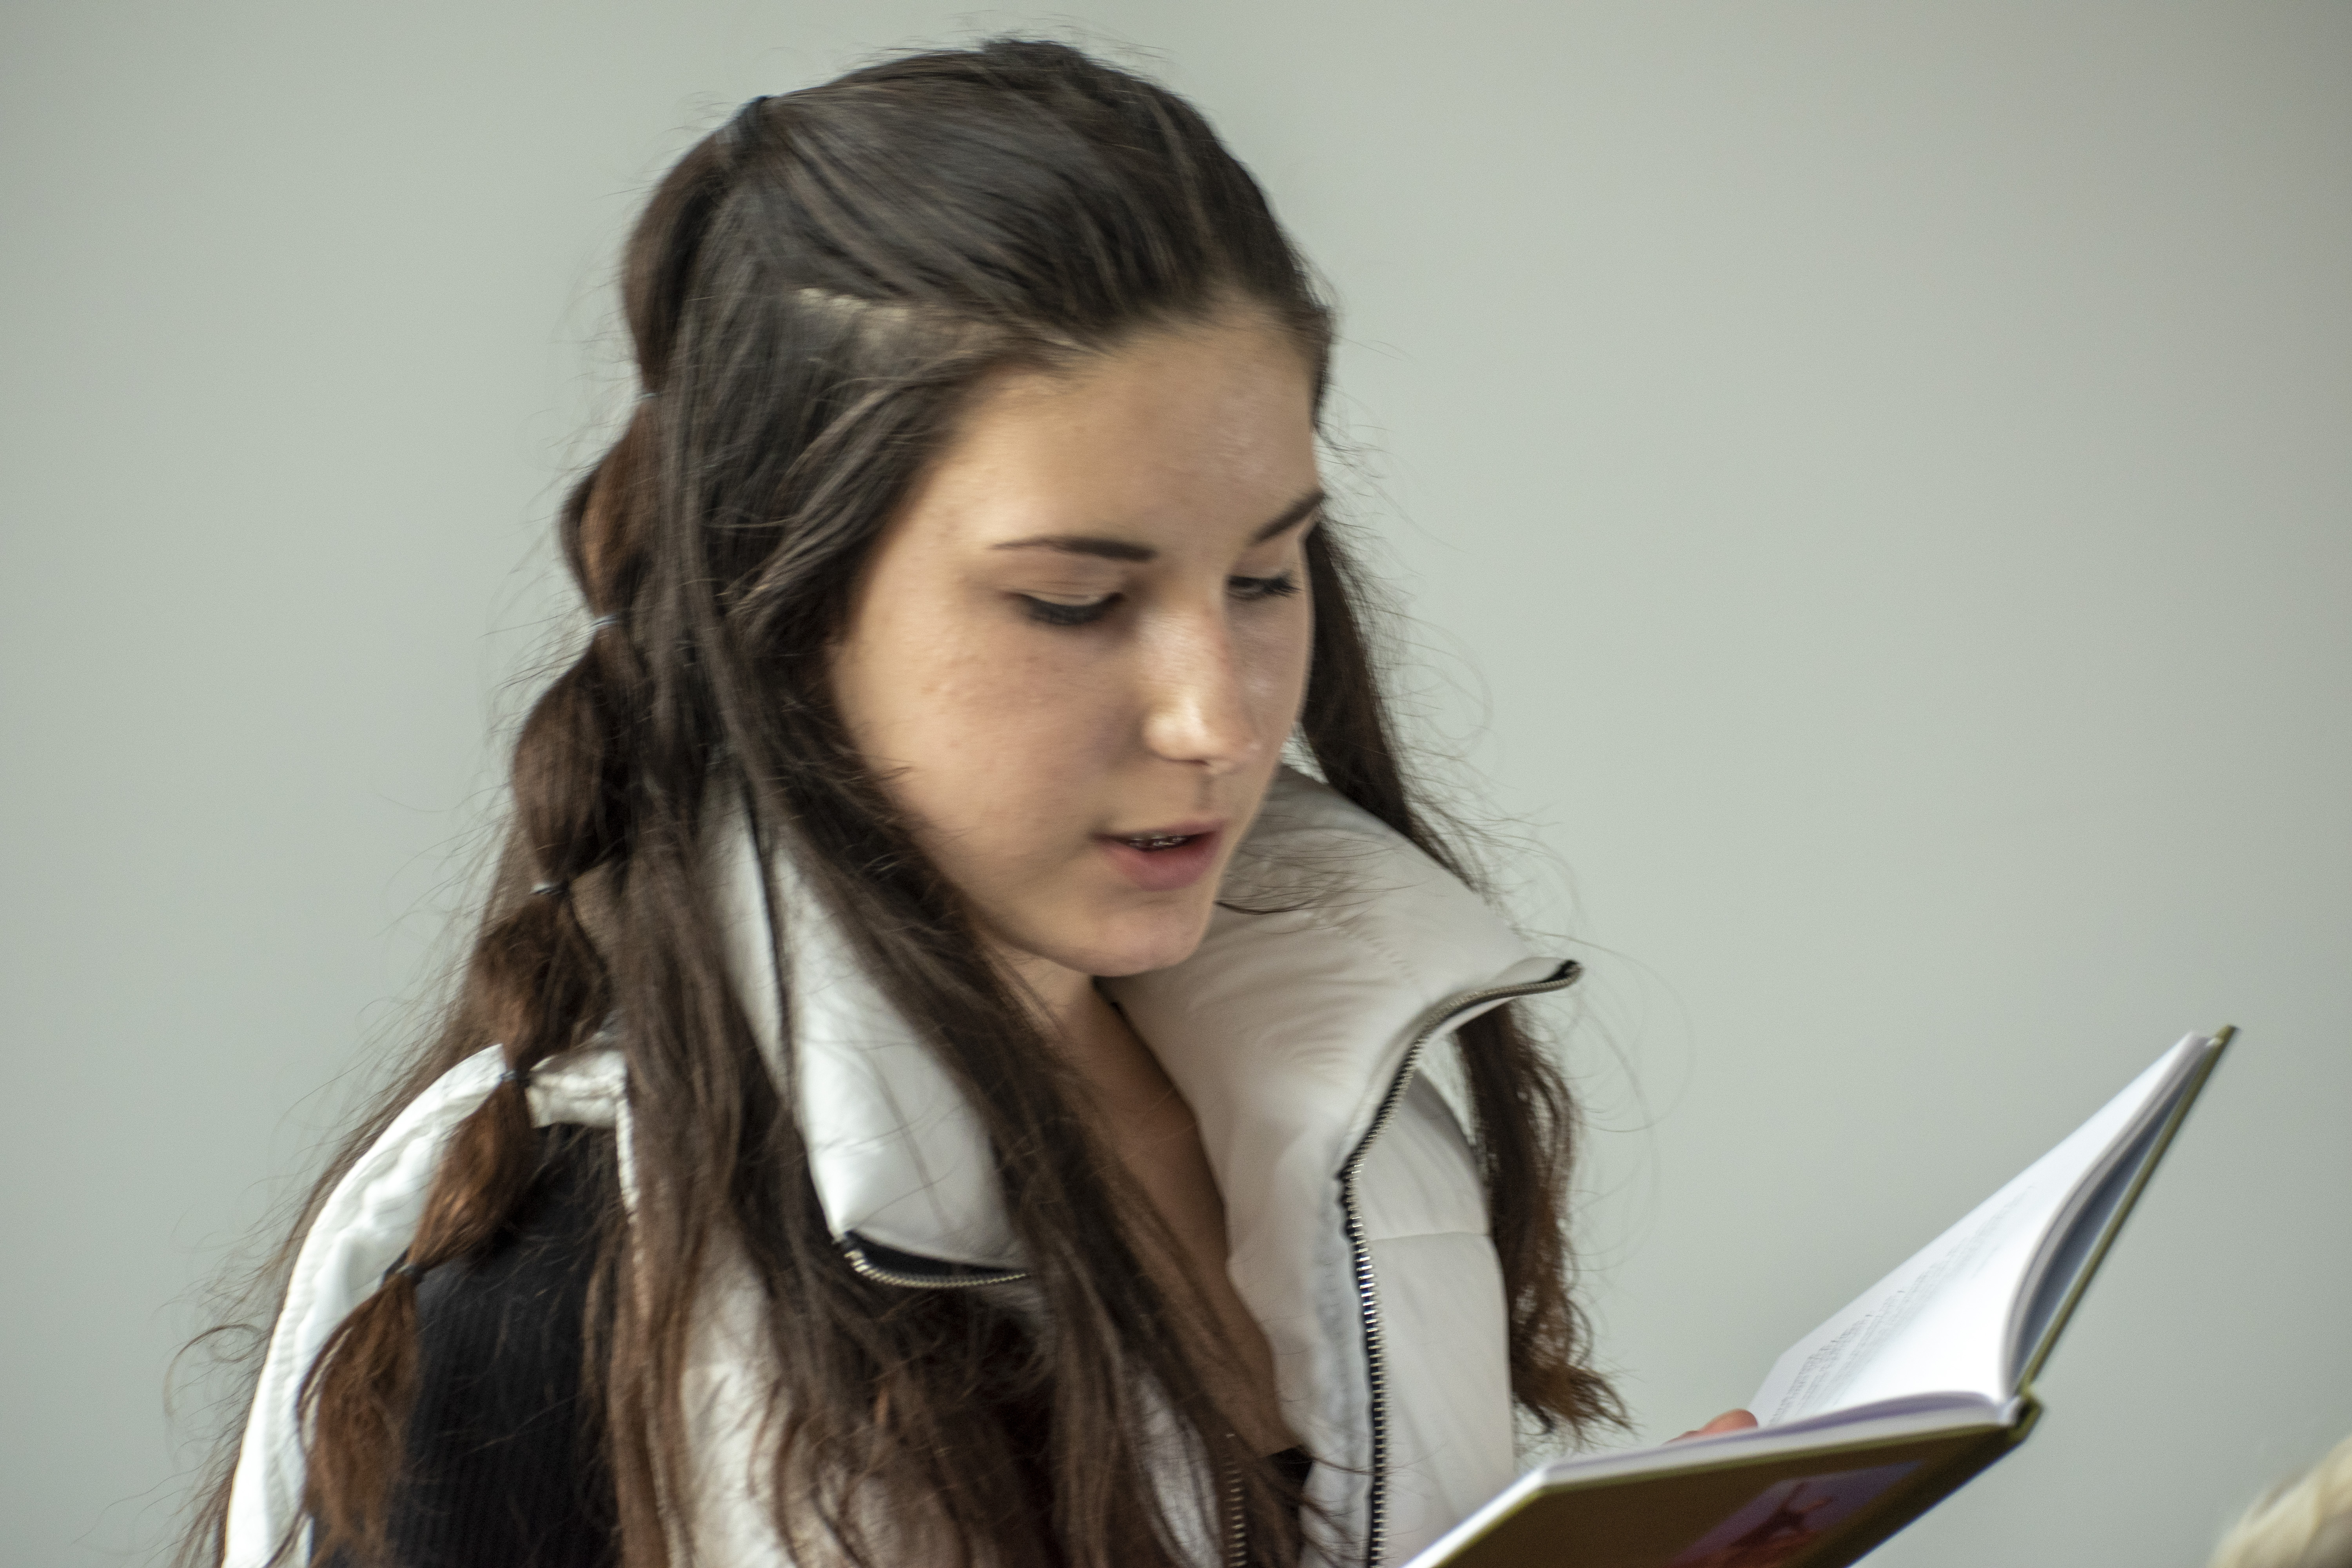
<path fill-rule="evenodd" d="M 776 964 L 793 978 L 800 1126 L 835 1239 L 901 1284 L 1018 1269 L 988 1135 L 931 1048 L 866 978 L 790 856 L 776 865 L 776 938 L 741 806 L 722 809 L 710 844 L 729 971 L 771 1065 Z M 1254 1279 L 1287 1272 L 1294 1211 L 1319 1208 L 1334 1190 L 1416 1046 L 1505 999 L 1482 992 L 1548 990 L 1562 966 L 1534 957 L 1402 835 L 1291 769 L 1277 773 L 1218 893 L 1192 957 L 1105 980 L 1105 992 L 1192 1107 L 1228 1194 L 1247 1300 Z M 1444 1065 L 1432 1067 L 1449 1088 Z M 1463 1117 L 1458 1091 L 1449 1100 Z"/>

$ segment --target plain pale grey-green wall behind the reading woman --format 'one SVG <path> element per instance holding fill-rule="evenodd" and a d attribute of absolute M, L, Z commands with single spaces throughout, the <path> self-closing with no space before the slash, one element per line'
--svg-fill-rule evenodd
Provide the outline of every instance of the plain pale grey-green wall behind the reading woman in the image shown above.
<path fill-rule="evenodd" d="M 1007 26 L 1336 284 L 1421 710 L 1592 966 L 1646 1436 L 2244 1025 L 1875 1559 L 2199 1563 L 2352 1429 L 2347 5 L 9 5 L 0 1559 L 153 1556 L 195 1291 L 430 994 L 649 181 Z"/>

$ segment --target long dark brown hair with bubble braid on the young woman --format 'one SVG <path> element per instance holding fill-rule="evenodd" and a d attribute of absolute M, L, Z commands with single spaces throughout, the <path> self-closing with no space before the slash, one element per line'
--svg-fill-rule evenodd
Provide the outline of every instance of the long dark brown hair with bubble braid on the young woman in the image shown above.
<path fill-rule="evenodd" d="M 1279 1476 L 1237 1446 L 1183 1302 L 1138 1267 L 1150 1239 L 1115 1161 L 849 745 L 826 651 L 873 541 L 983 374 L 1247 306 L 1298 343 L 1319 402 L 1329 308 L 1183 99 L 1025 40 L 743 106 L 661 181 L 621 287 L 644 393 L 562 510 L 564 562 L 600 623 L 522 724 L 506 865 L 452 1013 L 327 1182 L 485 1044 L 529 1070 L 616 1020 L 640 1197 L 607 1227 L 588 1375 L 630 1568 L 670 1561 L 661 1500 L 687 1490 L 684 1347 L 722 1251 L 769 1302 L 788 1540 L 830 1537 L 873 1563 L 887 1544 L 868 1497 L 887 1495 L 894 1530 L 927 1507 L 917 1528 L 969 1561 L 1176 1563 L 1178 1523 L 1152 1486 L 1167 1455 L 1148 1453 L 1138 1418 L 1148 1392 L 1197 1462 L 1240 1467 L 1254 1537 L 1294 1549 Z M 1399 769 L 1334 524 L 1310 534 L 1308 571 L 1305 750 L 1461 870 Z M 741 795 L 757 842 L 800 858 L 969 1095 L 1049 1333 L 985 1293 L 863 1279 L 833 1241 L 793 1117 L 790 1041 L 771 1070 L 720 957 L 701 846 L 713 790 Z M 1512 1394 L 1545 1429 L 1606 1420 L 1569 1291 L 1573 1100 L 1510 1009 L 1463 1034 Z M 409 1265 L 487 1248 L 534 1150 L 506 1081 L 459 1126 Z M 416 1286 L 395 1272 L 303 1385 L 322 1552 L 381 1554 L 414 1359 Z M 216 1559 L 223 1507 L 226 1486 L 193 1559 Z"/>

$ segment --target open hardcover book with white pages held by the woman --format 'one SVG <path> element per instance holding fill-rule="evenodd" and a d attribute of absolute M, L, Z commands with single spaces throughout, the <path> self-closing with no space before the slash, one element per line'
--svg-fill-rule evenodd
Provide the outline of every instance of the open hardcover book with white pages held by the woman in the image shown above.
<path fill-rule="evenodd" d="M 2002 1458 L 2234 1030 L 2190 1034 L 1773 1363 L 1759 1427 L 1543 1465 L 1406 1568 L 1842 1568 Z"/>

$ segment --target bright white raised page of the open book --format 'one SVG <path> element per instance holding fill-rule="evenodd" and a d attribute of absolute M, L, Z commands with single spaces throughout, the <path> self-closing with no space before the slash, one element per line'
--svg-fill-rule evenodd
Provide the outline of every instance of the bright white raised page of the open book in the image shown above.
<path fill-rule="evenodd" d="M 2180 1041 L 2056 1150 L 1978 1204 L 1773 1363 L 1750 1401 L 1764 1425 L 1926 1392 L 2006 1399 L 2009 1326 L 2044 1239 L 2074 1194 L 2147 1124 L 2201 1041 Z"/>

